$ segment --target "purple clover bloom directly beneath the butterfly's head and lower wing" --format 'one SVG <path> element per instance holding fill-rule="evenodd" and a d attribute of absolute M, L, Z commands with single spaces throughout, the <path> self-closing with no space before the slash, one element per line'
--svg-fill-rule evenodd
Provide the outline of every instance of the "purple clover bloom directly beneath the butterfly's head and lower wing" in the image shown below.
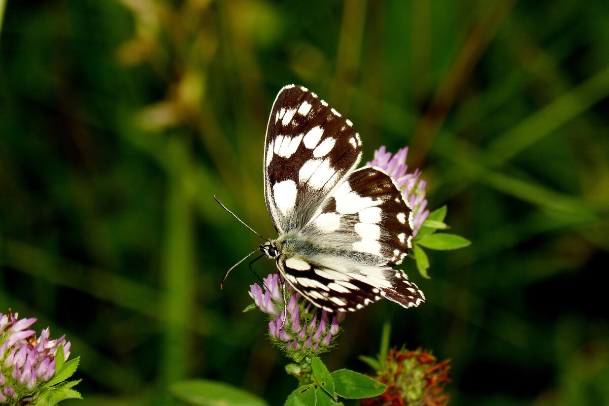
<path fill-rule="evenodd" d="M 262 287 L 251 285 L 249 293 L 256 306 L 270 316 L 269 337 L 275 345 L 297 362 L 331 348 L 344 312 L 317 309 L 289 285 L 286 285 L 287 303 L 284 303 L 283 280 L 278 274 L 270 274 L 262 282 Z"/>

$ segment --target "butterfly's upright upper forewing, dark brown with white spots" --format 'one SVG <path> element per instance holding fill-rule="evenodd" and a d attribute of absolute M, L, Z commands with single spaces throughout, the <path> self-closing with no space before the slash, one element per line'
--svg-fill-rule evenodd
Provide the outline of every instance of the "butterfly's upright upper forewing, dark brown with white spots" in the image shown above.
<path fill-rule="evenodd" d="M 302 229 L 360 158 L 351 121 L 302 86 L 281 89 L 264 143 L 264 195 L 277 231 Z"/>

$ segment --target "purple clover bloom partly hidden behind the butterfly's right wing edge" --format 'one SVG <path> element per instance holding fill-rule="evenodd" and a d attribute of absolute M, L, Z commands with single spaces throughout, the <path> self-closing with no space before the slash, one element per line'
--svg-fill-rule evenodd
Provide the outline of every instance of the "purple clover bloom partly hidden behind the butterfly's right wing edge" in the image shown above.
<path fill-rule="evenodd" d="M 418 169 L 415 169 L 413 173 L 406 172 L 408 170 L 406 165 L 407 155 L 408 147 L 398 150 L 392 157 L 392 153 L 386 152 L 383 145 L 375 151 L 375 159 L 372 159 L 367 165 L 381 168 L 395 180 L 412 209 L 412 233 L 416 236 L 429 215 L 429 210 L 426 210 L 427 200 L 425 199 L 427 182 L 420 179 L 421 171 Z"/>

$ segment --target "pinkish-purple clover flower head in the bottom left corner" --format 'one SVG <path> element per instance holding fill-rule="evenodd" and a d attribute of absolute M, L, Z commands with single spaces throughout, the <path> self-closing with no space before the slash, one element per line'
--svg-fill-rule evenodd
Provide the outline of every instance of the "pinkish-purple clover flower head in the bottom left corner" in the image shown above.
<path fill-rule="evenodd" d="M 71 343 L 65 336 L 49 340 L 46 328 L 36 337 L 29 329 L 35 318 L 19 319 L 19 313 L 0 313 L 0 403 L 37 396 L 37 387 L 55 375 L 55 357 L 63 348 L 68 359 Z"/>

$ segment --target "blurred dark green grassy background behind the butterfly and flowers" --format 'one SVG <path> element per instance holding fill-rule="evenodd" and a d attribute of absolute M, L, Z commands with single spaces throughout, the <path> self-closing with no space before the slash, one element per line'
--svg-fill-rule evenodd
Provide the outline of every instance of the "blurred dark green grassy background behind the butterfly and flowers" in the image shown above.
<path fill-rule="evenodd" d="M 0 1 L 0 4 L 4 0 Z M 330 369 L 392 345 L 452 359 L 452 405 L 609 405 L 609 3 L 9 0 L 0 32 L 0 312 L 82 356 L 84 401 L 172 404 L 222 380 L 295 387 L 256 282 L 276 92 L 350 117 L 364 159 L 410 145 L 469 248 L 429 252 L 428 302 L 349 315 Z M 270 261 L 255 265 L 264 276 Z M 386 302 L 386 301 L 384 301 Z"/>

